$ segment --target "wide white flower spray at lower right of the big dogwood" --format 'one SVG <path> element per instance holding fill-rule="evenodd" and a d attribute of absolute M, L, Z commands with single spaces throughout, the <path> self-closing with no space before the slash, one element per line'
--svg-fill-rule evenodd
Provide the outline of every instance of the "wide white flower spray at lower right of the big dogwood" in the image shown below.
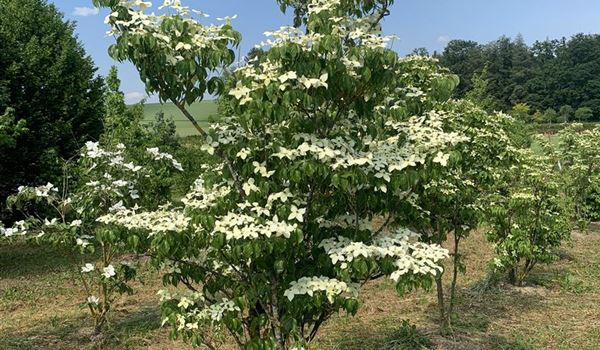
<path fill-rule="evenodd" d="M 392 236 L 380 235 L 371 244 L 354 242 L 346 237 L 329 238 L 319 245 L 329 255 L 333 264 L 348 268 L 348 263 L 356 258 L 395 259 L 398 268 L 390 276 L 397 281 L 402 275 L 436 274 L 441 271 L 438 261 L 448 257 L 448 250 L 435 244 L 415 242 L 418 235 L 407 229 L 399 229 Z"/>

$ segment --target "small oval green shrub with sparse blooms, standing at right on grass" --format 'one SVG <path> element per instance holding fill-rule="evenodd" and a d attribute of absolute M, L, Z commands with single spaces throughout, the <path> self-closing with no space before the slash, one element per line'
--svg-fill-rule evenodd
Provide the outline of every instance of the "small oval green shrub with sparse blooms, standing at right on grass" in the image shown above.
<path fill-rule="evenodd" d="M 536 264 L 555 260 L 570 237 L 569 207 L 554 164 L 546 156 L 520 151 L 510 179 L 487 202 L 488 239 L 498 254 L 494 265 L 508 271 L 518 286 Z"/>

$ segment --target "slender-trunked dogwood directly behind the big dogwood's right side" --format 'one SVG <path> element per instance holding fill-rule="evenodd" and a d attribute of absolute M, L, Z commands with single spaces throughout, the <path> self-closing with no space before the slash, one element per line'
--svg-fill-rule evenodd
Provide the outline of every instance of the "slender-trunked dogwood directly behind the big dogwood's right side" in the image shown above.
<path fill-rule="evenodd" d="M 416 189 L 414 204 L 419 216 L 407 217 L 421 239 L 444 244 L 452 233 L 453 270 L 449 302 L 445 305 L 444 270 L 436 276 L 438 306 L 444 327 L 450 326 L 458 272 L 466 267 L 460 242 L 484 219 L 487 196 L 503 184 L 504 169 L 516 160 L 517 149 L 510 139 L 512 118 L 488 114 L 467 101 L 451 100 L 439 106 L 442 128 L 466 137 L 451 153 L 438 157 L 430 181 Z"/>

